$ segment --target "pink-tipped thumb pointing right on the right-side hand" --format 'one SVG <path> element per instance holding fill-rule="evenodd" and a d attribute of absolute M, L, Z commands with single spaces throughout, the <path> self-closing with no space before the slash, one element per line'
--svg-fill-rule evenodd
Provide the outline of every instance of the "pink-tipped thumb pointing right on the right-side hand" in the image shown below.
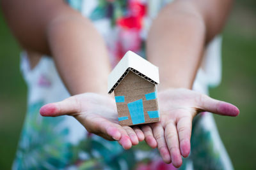
<path fill-rule="evenodd" d="M 200 106 L 202 110 L 217 113 L 218 115 L 230 117 L 237 117 L 237 115 L 239 115 L 239 109 L 233 104 L 212 99 L 204 94 L 198 97 L 198 106 Z"/>

